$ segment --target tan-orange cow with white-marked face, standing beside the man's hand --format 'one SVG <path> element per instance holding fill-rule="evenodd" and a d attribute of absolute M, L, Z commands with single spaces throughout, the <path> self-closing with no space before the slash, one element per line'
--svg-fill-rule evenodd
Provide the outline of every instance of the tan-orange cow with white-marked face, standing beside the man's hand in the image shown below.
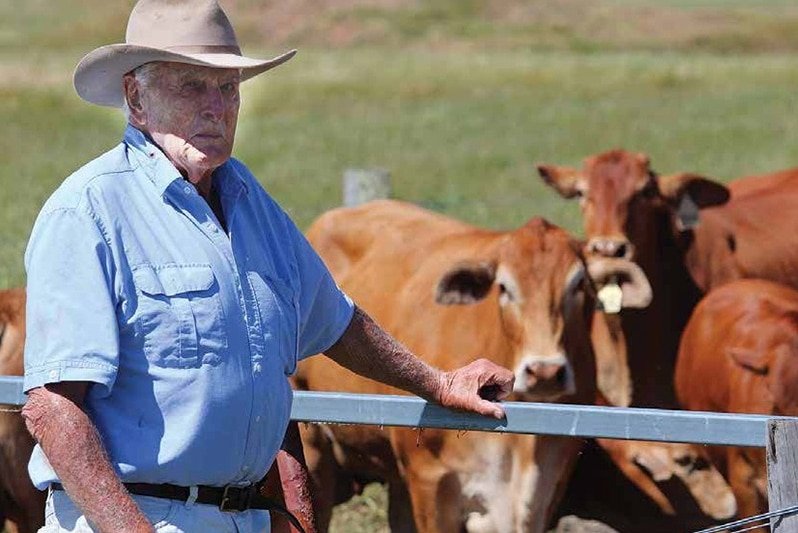
<path fill-rule="evenodd" d="M 650 296 L 629 262 L 591 266 L 597 279 L 591 278 L 581 246 L 539 218 L 514 231 L 490 231 L 380 201 L 324 214 L 308 238 L 354 301 L 431 364 L 450 369 L 486 356 L 515 369 L 514 400 L 591 403 L 593 281 L 620 278 L 627 305 L 645 305 Z M 321 357 L 300 365 L 296 384 L 399 392 Z M 581 444 L 556 436 L 335 425 L 307 427 L 304 442 L 322 530 L 334 503 L 380 480 L 389 485 L 394 533 L 542 532 Z"/>

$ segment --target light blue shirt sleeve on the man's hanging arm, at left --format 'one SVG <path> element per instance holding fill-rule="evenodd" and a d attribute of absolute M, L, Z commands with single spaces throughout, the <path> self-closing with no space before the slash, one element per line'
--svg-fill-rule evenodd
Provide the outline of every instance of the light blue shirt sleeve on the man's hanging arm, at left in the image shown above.
<path fill-rule="evenodd" d="M 42 212 L 25 252 L 27 305 L 24 389 L 89 381 L 110 392 L 118 366 L 118 326 L 109 247 L 78 208 Z"/>

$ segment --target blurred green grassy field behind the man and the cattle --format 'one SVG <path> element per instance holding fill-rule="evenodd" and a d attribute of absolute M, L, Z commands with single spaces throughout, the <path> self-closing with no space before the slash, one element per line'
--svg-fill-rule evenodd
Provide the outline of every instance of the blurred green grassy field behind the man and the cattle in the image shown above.
<path fill-rule="evenodd" d="M 798 166 L 794 0 L 221 0 L 247 55 L 291 48 L 242 86 L 235 156 L 305 228 L 349 168 L 474 224 L 544 216 L 580 234 L 537 163 L 610 148 L 720 181 Z M 45 199 L 119 142 L 119 111 L 72 70 L 122 42 L 132 0 L 0 3 L 0 288 Z M 338 533 L 387 531 L 369 487 Z"/>

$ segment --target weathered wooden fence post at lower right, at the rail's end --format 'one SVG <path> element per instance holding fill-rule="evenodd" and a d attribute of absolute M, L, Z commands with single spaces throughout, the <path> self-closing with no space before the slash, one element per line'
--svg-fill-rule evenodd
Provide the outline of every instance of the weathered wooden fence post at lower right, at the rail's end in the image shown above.
<path fill-rule="evenodd" d="M 770 512 L 798 505 L 798 421 L 768 422 L 768 507 Z M 798 514 L 770 519 L 772 533 L 798 531 Z"/>

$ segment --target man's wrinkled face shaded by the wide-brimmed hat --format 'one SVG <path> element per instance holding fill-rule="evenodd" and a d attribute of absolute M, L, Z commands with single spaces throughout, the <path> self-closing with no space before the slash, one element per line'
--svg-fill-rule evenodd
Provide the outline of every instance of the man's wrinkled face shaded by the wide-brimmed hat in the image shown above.
<path fill-rule="evenodd" d="M 240 82 L 237 69 L 161 63 L 141 92 L 144 129 L 194 183 L 230 158 Z"/>

